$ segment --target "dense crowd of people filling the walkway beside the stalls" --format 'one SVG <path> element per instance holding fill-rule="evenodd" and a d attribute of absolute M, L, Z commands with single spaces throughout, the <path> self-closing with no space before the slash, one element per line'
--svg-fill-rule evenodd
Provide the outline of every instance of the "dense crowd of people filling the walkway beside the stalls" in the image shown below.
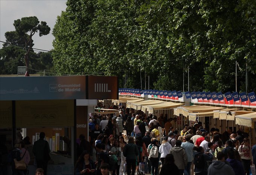
<path fill-rule="evenodd" d="M 84 173 L 78 161 L 76 174 L 101 175 L 104 167 L 114 175 L 135 175 L 143 164 L 151 175 L 249 175 L 256 162 L 256 147 L 250 148 L 248 134 L 240 130 L 221 134 L 197 122 L 178 131 L 177 118 L 146 116 L 125 107 L 119 108 L 119 116 L 90 116 L 89 126 L 91 148 L 85 151 L 92 152 L 96 170 L 90 166 L 93 172 Z"/>

